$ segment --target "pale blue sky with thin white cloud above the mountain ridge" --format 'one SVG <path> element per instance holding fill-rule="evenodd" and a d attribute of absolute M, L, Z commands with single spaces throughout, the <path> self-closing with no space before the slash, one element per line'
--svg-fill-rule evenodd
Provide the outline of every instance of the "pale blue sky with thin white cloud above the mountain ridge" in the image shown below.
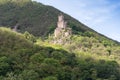
<path fill-rule="evenodd" d="M 120 42 L 120 0 L 33 0 L 53 6 Z"/>

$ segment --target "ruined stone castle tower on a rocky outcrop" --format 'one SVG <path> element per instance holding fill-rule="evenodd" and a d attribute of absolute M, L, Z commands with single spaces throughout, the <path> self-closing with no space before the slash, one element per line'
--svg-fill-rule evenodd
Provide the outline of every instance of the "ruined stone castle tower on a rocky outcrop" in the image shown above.
<path fill-rule="evenodd" d="M 64 16 L 60 14 L 58 16 L 57 28 L 54 31 L 54 38 L 56 39 L 55 43 L 63 43 L 71 34 L 71 28 L 67 27 L 67 22 L 64 20 Z"/>

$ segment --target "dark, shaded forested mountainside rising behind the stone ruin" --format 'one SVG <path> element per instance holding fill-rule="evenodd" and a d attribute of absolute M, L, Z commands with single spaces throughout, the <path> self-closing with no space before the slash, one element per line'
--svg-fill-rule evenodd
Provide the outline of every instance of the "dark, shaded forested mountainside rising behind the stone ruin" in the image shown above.
<path fill-rule="evenodd" d="M 36 36 L 46 36 L 52 32 L 60 13 L 63 12 L 31 0 L 0 0 L 0 26 L 14 28 L 19 24 L 18 31 L 28 31 Z M 67 14 L 64 16 L 74 33 L 92 31 Z"/>

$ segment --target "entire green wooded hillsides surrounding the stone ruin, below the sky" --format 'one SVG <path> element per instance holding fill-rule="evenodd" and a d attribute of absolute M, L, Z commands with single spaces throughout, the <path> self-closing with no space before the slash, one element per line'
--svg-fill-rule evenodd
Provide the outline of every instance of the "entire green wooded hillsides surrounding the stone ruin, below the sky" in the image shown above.
<path fill-rule="evenodd" d="M 60 13 L 72 33 L 55 44 Z M 51 6 L 0 0 L 0 80 L 120 80 L 120 43 Z"/>

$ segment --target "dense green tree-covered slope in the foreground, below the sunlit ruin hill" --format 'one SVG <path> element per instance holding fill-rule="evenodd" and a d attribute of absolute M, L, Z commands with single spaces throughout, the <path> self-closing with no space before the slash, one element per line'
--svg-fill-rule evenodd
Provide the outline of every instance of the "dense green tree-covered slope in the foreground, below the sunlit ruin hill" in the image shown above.
<path fill-rule="evenodd" d="M 43 47 L 43 44 L 38 46 L 31 41 L 34 37 L 26 38 L 26 33 L 0 28 L 1 80 L 120 79 L 116 61 L 76 56 L 63 49 Z"/>

